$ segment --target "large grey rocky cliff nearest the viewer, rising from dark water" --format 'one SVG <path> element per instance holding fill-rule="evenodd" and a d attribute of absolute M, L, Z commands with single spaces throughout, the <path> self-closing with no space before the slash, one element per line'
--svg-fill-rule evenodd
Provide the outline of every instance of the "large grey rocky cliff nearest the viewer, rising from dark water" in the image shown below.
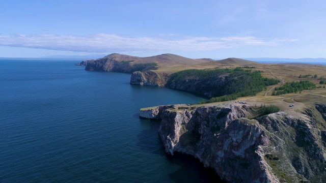
<path fill-rule="evenodd" d="M 326 106 L 316 106 L 323 115 Z M 294 111 L 254 119 L 255 110 L 172 105 L 141 109 L 140 116 L 161 120 L 167 153 L 192 155 L 227 181 L 325 182 L 326 133 L 318 127 L 325 121 Z"/>

